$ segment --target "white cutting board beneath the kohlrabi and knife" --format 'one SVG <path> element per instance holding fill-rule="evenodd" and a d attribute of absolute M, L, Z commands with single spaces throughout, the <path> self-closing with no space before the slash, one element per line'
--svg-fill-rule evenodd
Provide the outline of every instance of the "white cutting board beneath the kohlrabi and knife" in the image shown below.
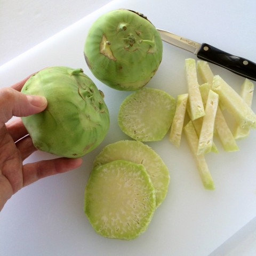
<path fill-rule="evenodd" d="M 205 256 L 256 216 L 255 131 L 249 138 L 238 141 L 238 152 L 224 152 L 217 141 L 220 153 L 206 156 L 216 186 L 214 191 L 203 188 L 185 139 L 182 138 L 177 149 L 166 136 L 161 142 L 148 143 L 161 155 L 171 175 L 166 199 L 155 212 L 148 230 L 129 242 L 94 233 L 83 213 L 84 187 L 93 158 L 101 148 L 127 138 L 119 130 L 117 113 L 130 92 L 115 91 L 98 82 L 86 66 L 83 45 L 92 22 L 102 13 L 117 8 L 137 10 L 146 14 L 156 27 L 256 62 L 255 1 L 120 0 L 1 66 L 1 87 L 47 66 L 83 68 L 105 93 L 111 125 L 102 144 L 84 156 L 82 167 L 38 181 L 7 202 L 0 213 L 0 255 Z M 163 61 L 148 86 L 165 90 L 174 97 L 187 92 L 183 70 L 186 58 L 196 57 L 164 43 Z M 211 67 L 239 90 L 244 78 Z M 252 108 L 256 110 L 256 99 Z M 51 157 L 38 152 L 28 161 Z"/>

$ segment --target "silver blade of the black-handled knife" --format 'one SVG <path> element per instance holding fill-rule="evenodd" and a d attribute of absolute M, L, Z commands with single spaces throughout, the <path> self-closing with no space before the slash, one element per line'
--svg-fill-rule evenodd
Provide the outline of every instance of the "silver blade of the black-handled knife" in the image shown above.
<path fill-rule="evenodd" d="M 190 39 L 187 39 L 185 37 L 172 34 L 162 29 L 157 29 L 157 31 L 161 35 L 161 38 L 164 42 L 178 46 L 183 50 L 197 54 L 197 52 L 201 48 L 201 44 L 191 41 Z"/>

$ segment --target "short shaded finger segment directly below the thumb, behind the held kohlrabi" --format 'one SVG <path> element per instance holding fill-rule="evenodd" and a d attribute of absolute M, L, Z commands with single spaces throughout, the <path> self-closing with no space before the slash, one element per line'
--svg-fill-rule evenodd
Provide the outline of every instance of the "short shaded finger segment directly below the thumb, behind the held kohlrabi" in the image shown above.
<path fill-rule="evenodd" d="M 6 127 L 14 142 L 28 134 L 27 129 L 21 121 L 21 118 L 13 119 L 6 124 Z"/>

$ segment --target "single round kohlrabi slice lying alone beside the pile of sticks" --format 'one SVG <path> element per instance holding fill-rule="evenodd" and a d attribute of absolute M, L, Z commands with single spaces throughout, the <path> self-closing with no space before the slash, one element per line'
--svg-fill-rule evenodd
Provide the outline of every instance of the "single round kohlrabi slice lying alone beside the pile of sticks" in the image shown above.
<path fill-rule="evenodd" d="M 162 140 L 170 129 L 175 99 L 163 90 L 144 87 L 127 96 L 119 108 L 121 130 L 139 141 Z"/>

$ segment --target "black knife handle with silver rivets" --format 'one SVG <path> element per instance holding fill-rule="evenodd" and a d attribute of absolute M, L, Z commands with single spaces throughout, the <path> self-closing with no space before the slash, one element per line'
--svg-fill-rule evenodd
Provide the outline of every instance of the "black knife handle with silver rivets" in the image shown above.
<path fill-rule="evenodd" d="M 210 44 L 202 44 L 197 53 L 197 58 L 214 63 L 215 65 L 226 68 L 237 75 L 256 81 L 256 63 L 227 52 L 223 52 Z"/>

